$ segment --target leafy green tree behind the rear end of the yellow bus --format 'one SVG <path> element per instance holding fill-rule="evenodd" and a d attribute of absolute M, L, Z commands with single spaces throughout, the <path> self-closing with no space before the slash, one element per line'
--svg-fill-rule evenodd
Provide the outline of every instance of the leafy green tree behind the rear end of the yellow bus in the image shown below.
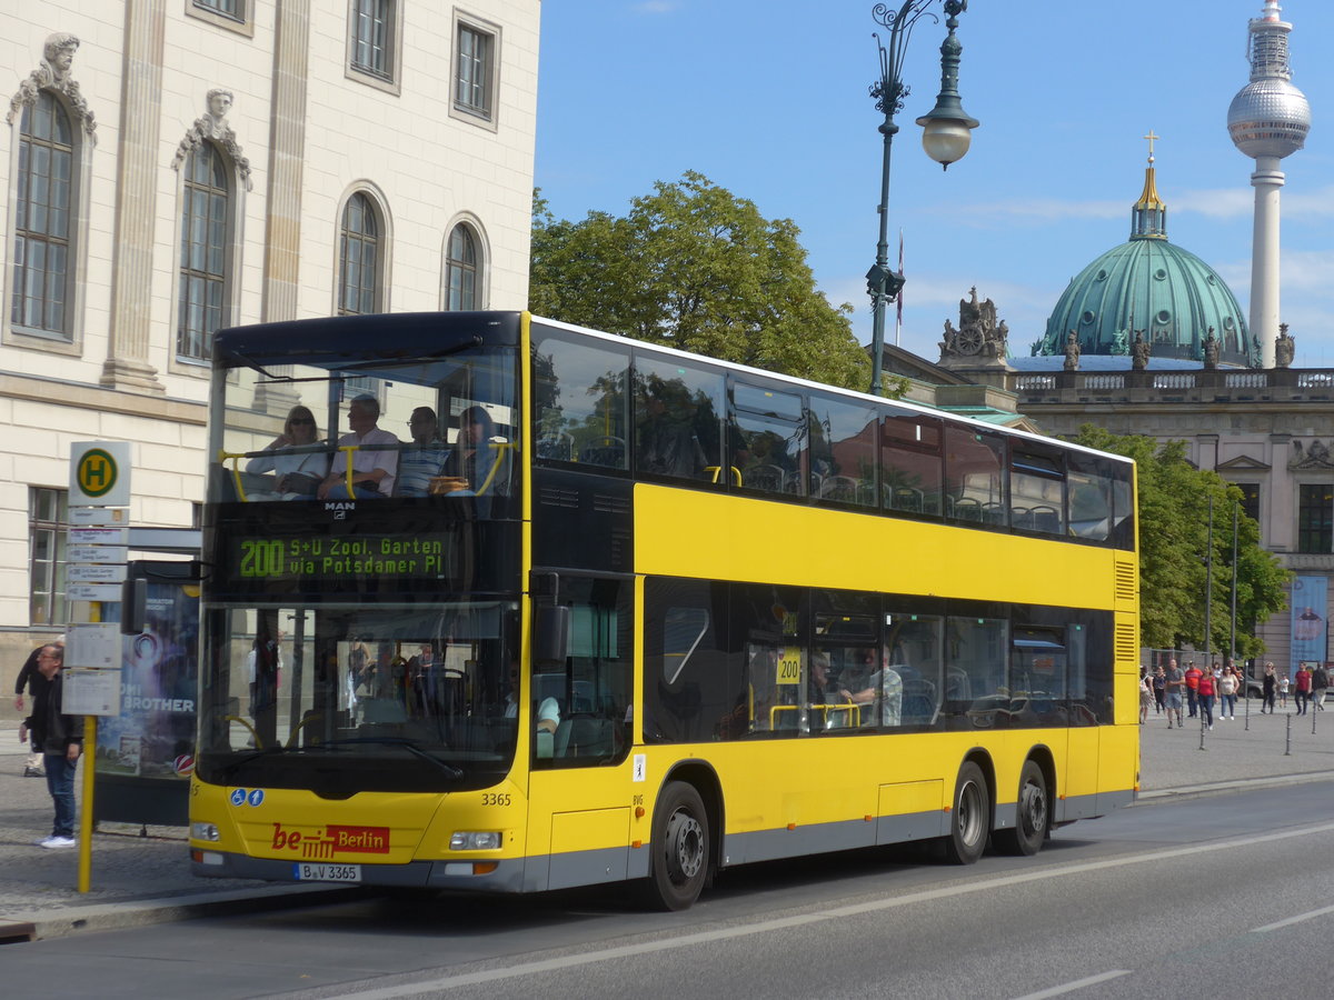
<path fill-rule="evenodd" d="M 1233 509 L 1242 492 L 1217 472 L 1197 469 L 1185 441 L 1158 444 L 1085 424 L 1075 439 L 1125 455 L 1139 468 L 1139 628 L 1153 648 L 1205 648 L 1207 553 L 1213 549 L 1210 648 L 1226 651 L 1231 632 Z M 1209 503 L 1214 531 L 1209 532 Z M 1237 529 L 1237 651 L 1258 656 L 1265 644 L 1254 624 L 1282 611 L 1291 573 L 1259 544 L 1259 525 L 1242 513 Z"/>

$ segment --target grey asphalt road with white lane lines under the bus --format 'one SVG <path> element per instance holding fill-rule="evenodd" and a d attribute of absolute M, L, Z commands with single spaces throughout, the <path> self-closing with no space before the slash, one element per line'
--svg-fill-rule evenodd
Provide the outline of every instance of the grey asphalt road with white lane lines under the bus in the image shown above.
<path fill-rule="evenodd" d="M 0 951 L 12 996 L 1326 997 L 1334 781 L 1126 809 L 1035 859 L 856 852 L 623 891 L 388 896 Z"/>

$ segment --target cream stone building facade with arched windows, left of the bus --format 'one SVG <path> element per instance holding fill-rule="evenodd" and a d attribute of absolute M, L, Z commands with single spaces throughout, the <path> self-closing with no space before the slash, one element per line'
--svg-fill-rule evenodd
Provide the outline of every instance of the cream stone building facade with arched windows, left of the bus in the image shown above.
<path fill-rule="evenodd" d="M 0 9 L 0 679 L 63 631 L 73 441 L 203 500 L 224 325 L 523 308 L 540 0 Z"/>

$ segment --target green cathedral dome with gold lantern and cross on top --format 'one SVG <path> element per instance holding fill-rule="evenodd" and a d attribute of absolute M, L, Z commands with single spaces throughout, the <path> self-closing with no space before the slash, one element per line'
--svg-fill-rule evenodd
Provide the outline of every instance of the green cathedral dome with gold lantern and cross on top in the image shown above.
<path fill-rule="evenodd" d="M 1035 353 L 1063 355 L 1074 331 L 1085 355 L 1129 355 L 1139 333 L 1154 357 L 1203 361 L 1213 329 L 1222 364 L 1259 367 L 1259 344 L 1231 289 L 1209 264 L 1167 241 L 1167 207 L 1158 197 L 1153 156 L 1149 163 L 1130 241 L 1074 277 Z"/>

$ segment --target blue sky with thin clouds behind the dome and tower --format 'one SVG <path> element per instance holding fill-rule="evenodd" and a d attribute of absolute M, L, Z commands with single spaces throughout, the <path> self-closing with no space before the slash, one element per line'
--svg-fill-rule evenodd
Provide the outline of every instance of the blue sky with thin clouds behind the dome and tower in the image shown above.
<path fill-rule="evenodd" d="M 922 19 L 890 185 L 891 244 L 902 228 L 908 279 L 903 345 L 935 360 L 944 320 L 976 285 L 1009 323 L 1011 351 L 1027 355 L 1070 279 L 1127 239 L 1150 129 L 1169 239 L 1214 267 L 1245 309 L 1253 161 L 1226 120 L 1262 5 L 971 0 L 959 91 L 982 125 L 947 172 L 914 124 L 935 101 L 944 37 L 943 15 Z M 1297 365 L 1334 367 L 1334 4 L 1282 7 L 1293 83 L 1314 119 L 1306 148 L 1283 160 L 1282 317 Z M 535 183 L 556 216 L 582 219 L 622 215 L 654 181 L 699 171 L 800 227 L 816 283 L 856 307 L 868 341 L 882 151 L 867 96 L 879 73 L 871 8 L 546 0 Z"/>

